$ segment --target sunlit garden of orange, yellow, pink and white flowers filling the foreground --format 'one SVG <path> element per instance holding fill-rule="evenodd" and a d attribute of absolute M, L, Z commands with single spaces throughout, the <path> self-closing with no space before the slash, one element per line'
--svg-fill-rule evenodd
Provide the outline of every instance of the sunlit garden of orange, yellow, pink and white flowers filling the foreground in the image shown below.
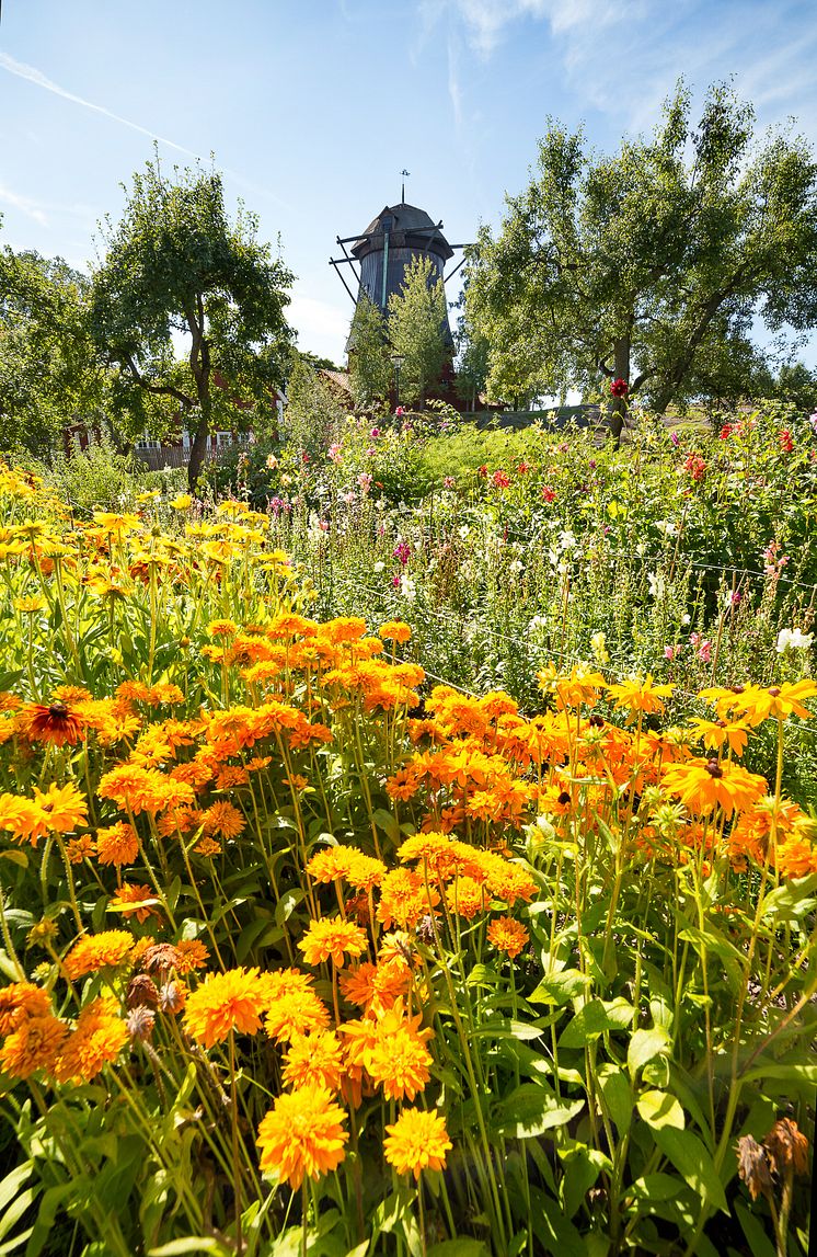
<path fill-rule="evenodd" d="M 807 1251 L 813 459 L 758 432 L 3 468 L 1 1252 Z"/>

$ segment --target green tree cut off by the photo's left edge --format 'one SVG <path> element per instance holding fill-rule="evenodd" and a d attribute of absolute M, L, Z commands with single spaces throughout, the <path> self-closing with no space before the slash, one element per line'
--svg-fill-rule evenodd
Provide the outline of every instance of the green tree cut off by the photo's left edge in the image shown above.
<path fill-rule="evenodd" d="M 83 323 L 88 280 L 60 258 L 0 250 L 0 434 L 48 455 L 62 430 L 94 424 L 104 397 Z"/>

